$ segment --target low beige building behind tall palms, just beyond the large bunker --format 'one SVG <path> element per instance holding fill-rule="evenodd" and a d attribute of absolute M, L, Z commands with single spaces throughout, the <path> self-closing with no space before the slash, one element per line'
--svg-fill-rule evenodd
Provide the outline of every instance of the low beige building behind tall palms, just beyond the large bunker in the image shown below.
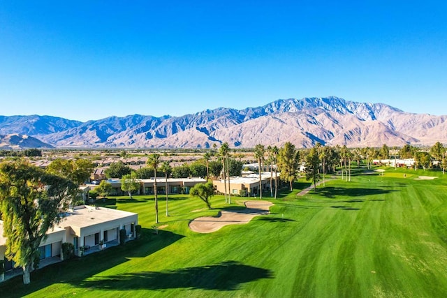
<path fill-rule="evenodd" d="M 261 186 L 263 192 L 270 191 L 270 172 L 261 173 Z M 274 174 L 272 184 L 274 184 Z M 277 174 L 278 185 L 279 185 L 279 173 Z M 225 185 L 223 184 L 223 179 L 214 180 L 212 184 L 219 193 L 225 193 Z M 228 181 L 226 182 L 228 188 Z M 230 177 L 230 194 L 232 195 L 249 195 L 255 196 L 259 194 L 259 174 L 249 174 L 244 177 Z"/>

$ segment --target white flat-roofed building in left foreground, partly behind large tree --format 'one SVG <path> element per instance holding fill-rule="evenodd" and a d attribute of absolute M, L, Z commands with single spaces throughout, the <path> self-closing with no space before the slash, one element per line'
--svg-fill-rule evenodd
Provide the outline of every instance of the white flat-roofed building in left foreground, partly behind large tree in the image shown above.
<path fill-rule="evenodd" d="M 47 239 L 39 246 L 41 261 L 63 260 L 61 246 L 65 242 L 73 244 L 75 255 L 81 257 L 119 244 L 119 230 L 122 229 L 126 231 L 125 241 L 135 239 L 137 224 L 138 214 L 132 212 L 85 205 L 74 207 L 47 232 Z M 14 263 L 5 260 L 5 251 L 6 239 L 3 237 L 3 221 L 0 221 L 0 260 L 5 261 L 4 268 L 8 272 L 14 269 Z"/>

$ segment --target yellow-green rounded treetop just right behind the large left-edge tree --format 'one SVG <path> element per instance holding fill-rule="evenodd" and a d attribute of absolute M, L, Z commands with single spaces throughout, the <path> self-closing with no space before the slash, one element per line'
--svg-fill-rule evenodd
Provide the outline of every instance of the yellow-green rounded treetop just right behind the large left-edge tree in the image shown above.
<path fill-rule="evenodd" d="M 47 172 L 50 174 L 65 177 L 78 185 L 83 184 L 87 181 L 87 179 L 89 179 L 93 169 L 93 163 L 85 158 L 80 158 L 75 161 L 57 158 L 46 168 Z"/>

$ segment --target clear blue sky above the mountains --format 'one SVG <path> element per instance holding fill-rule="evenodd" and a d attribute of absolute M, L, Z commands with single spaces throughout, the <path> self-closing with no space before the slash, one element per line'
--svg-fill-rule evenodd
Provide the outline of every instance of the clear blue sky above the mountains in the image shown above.
<path fill-rule="evenodd" d="M 360 2 L 360 3 L 356 3 Z M 447 1 L 0 1 L 0 114 L 339 96 L 447 114 Z"/>

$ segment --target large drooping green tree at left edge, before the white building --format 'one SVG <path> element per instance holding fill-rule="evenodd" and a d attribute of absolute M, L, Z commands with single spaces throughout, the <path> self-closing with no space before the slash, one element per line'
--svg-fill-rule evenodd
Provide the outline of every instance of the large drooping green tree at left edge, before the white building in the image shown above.
<path fill-rule="evenodd" d="M 27 161 L 0 163 L 0 210 L 6 257 L 23 269 L 23 283 L 38 268 L 38 247 L 59 221 L 61 208 L 75 198 L 78 186 Z"/>

